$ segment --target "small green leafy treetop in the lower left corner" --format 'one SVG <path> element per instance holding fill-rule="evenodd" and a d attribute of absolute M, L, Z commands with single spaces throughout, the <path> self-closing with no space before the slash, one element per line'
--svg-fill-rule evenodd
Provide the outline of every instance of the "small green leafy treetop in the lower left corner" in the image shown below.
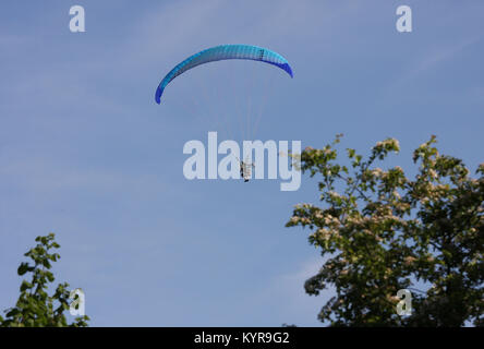
<path fill-rule="evenodd" d="M 5 310 L 7 318 L 0 316 L 0 326 L 3 327 L 43 327 L 43 326 L 87 326 L 89 317 L 80 316 L 68 324 L 64 311 L 69 310 L 70 292 L 69 284 L 59 284 L 52 296 L 48 296 L 49 282 L 53 282 L 53 274 L 49 270 L 51 262 L 60 258 L 58 253 L 50 253 L 51 249 L 59 249 L 55 241 L 55 234 L 37 237 L 38 244 L 24 255 L 33 261 L 33 264 L 21 263 L 17 269 L 20 276 L 32 273 L 32 280 L 23 280 L 20 287 L 20 297 L 15 306 Z M 76 294 L 76 297 L 78 297 Z M 75 301 L 72 300 L 72 301 Z M 78 306 L 78 305 L 76 305 Z"/>

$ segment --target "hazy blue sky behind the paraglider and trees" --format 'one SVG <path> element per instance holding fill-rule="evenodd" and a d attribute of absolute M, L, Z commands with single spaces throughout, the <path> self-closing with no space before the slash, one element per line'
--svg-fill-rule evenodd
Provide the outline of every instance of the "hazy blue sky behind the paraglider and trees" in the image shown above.
<path fill-rule="evenodd" d="M 69 31 L 74 4 L 85 8 L 85 33 Z M 395 28 L 400 4 L 413 10 L 413 33 Z M 412 149 L 436 134 L 444 153 L 471 169 L 483 163 L 480 0 L 3 1 L 0 10 L 1 310 L 16 300 L 23 253 L 53 231 L 58 281 L 84 289 L 92 325 L 320 325 L 331 290 L 308 297 L 303 284 L 323 260 L 307 230 L 283 227 L 293 205 L 317 200 L 316 182 L 281 192 L 275 180 L 182 173 L 183 144 L 223 134 L 220 116 L 226 134 L 247 135 L 238 124 L 254 110 L 246 100 L 264 110 L 263 141 L 320 147 L 344 133 L 342 148 L 370 152 L 392 136 L 402 152 L 391 161 L 411 172 Z M 280 52 L 294 79 L 254 62 L 207 64 L 155 104 L 174 64 L 220 44 Z"/>

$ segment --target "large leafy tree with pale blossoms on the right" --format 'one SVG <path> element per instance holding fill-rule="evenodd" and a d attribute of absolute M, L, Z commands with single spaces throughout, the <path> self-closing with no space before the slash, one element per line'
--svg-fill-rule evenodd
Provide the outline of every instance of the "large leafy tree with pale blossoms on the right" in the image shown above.
<path fill-rule="evenodd" d="M 297 205 L 287 227 L 308 227 L 326 256 L 306 280 L 308 294 L 336 288 L 318 318 L 331 326 L 484 325 L 484 164 L 476 179 L 457 158 L 440 155 L 436 137 L 413 153 L 414 179 L 400 167 L 375 167 L 397 140 L 378 142 L 364 160 L 336 141 L 304 149 L 301 169 L 320 178 L 322 207 Z M 423 289 L 422 289 L 423 288 Z M 412 292 L 412 313 L 400 316 L 397 292 Z"/>

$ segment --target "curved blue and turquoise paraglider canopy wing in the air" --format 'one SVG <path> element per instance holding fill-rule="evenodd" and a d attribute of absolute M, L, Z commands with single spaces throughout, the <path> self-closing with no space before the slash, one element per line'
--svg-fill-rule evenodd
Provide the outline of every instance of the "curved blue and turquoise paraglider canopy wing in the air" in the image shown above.
<path fill-rule="evenodd" d="M 252 45 L 221 45 L 195 53 L 174 67 L 159 83 L 155 95 L 156 103 L 160 104 L 165 88 L 178 75 L 204 63 L 228 59 L 254 60 L 273 64 L 282 69 L 292 77 L 292 69 L 289 62 L 275 51 Z"/>

